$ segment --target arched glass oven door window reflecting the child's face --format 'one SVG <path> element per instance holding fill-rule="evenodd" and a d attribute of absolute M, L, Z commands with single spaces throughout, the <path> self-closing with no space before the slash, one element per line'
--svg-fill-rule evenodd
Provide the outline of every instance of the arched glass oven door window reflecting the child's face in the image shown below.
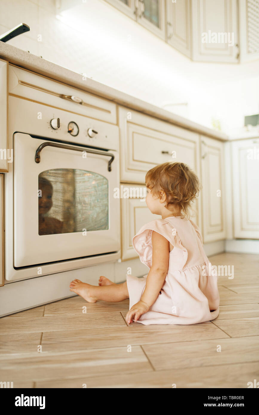
<path fill-rule="evenodd" d="M 39 235 L 108 229 L 108 180 L 92 171 L 55 168 L 39 174 Z"/>

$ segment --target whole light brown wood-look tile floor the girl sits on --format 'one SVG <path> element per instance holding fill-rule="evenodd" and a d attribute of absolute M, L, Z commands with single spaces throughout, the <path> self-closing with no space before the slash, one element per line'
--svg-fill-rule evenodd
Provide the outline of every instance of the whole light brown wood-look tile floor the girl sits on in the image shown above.
<path fill-rule="evenodd" d="M 234 278 L 219 277 L 220 315 L 211 322 L 128 326 L 128 300 L 89 304 L 78 296 L 2 317 L 0 381 L 14 388 L 247 388 L 259 381 L 259 255 L 210 261 L 234 266 Z"/>

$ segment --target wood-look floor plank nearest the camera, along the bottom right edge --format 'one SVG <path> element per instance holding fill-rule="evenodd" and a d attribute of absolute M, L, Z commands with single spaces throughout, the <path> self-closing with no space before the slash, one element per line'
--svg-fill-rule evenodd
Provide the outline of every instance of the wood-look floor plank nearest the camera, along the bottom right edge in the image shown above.
<path fill-rule="evenodd" d="M 36 388 L 247 388 L 258 379 L 259 362 L 137 374 L 40 381 Z M 173 385 L 173 386 L 172 386 Z M 238 395 L 241 393 L 238 392 Z"/>

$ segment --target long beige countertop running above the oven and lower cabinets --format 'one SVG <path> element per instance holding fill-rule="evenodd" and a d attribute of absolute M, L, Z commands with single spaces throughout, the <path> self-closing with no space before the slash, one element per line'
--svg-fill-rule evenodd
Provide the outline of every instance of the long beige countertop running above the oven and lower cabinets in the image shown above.
<path fill-rule="evenodd" d="M 162 108 L 156 107 L 155 105 L 146 103 L 145 101 L 139 100 L 138 98 L 128 95 L 100 82 L 94 81 L 93 79 L 87 78 L 87 81 L 82 79 L 82 75 L 67 68 L 56 65 L 41 58 L 35 56 L 29 52 L 23 51 L 22 49 L 11 46 L 7 43 L 0 41 L 0 59 L 13 63 L 21 68 L 29 69 L 35 73 L 48 76 L 56 81 L 66 83 L 75 88 L 93 93 L 100 97 L 106 98 L 117 104 L 128 107 L 132 110 L 143 112 L 144 114 L 151 115 L 170 122 L 174 125 L 184 127 L 199 134 L 205 134 L 209 137 L 213 137 L 222 141 L 228 140 L 228 136 L 222 132 L 204 127 L 203 125 L 197 124 L 191 120 L 183 118 L 179 115 L 173 114 L 172 112 L 166 111 Z"/>

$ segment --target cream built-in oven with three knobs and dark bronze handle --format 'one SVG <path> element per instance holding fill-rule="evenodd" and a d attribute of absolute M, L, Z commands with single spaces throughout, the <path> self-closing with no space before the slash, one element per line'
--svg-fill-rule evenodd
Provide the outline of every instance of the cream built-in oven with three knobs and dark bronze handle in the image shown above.
<path fill-rule="evenodd" d="M 113 197 L 120 186 L 118 127 L 9 99 L 6 280 L 119 259 L 120 200 Z"/>

